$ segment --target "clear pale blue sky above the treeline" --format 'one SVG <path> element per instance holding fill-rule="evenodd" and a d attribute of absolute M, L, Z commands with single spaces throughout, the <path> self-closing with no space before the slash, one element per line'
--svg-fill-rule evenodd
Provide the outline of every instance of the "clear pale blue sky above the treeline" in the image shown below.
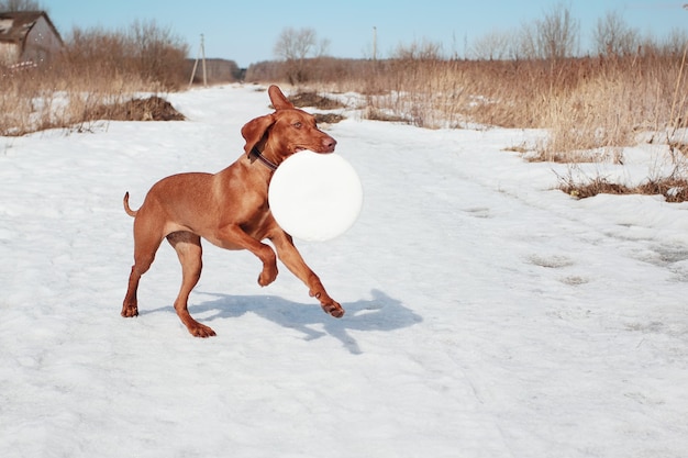
<path fill-rule="evenodd" d="M 673 27 L 688 30 L 686 1 L 565 1 L 580 22 L 581 45 L 590 40 L 598 19 L 618 11 L 642 34 L 665 36 Z M 246 67 L 275 58 L 273 48 L 285 27 L 312 27 L 330 42 L 335 57 L 370 57 L 373 30 L 378 56 L 399 44 L 423 40 L 441 43 L 446 53 L 463 56 L 466 44 L 495 30 L 517 31 L 561 3 L 559 0 L 43 0 L 55 26 L 67 35 L 73 26 L 126 29 L 134 21 L 155 21 L 170 27 L 196 57 L 200 35 L 206 55 L 235 60 Z"/>

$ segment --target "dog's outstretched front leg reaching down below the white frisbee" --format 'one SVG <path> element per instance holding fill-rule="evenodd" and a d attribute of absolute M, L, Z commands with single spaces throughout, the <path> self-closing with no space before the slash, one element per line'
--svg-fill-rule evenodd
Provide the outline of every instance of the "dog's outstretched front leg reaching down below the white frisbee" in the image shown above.
<path fill-rule="evenodd" d="M 310 269 L 310 267 L 307 266 L 306 261 L 301 257 L 301 254 L 293 245 L 291 236 L 281 232 L 280 234 L 270 237 L 270 239 L 277 248 L 277 256 L 279 256 L 279 260 L 281 260 L 295 276 L 306 283 L 309 288 L 311 297 L 320 301 L 322 310 L 336 319 L 344 316 L 344 309 L 342 309 L 342 305 L 328 294 L 328 291 L 325 291 L 325 288 L 322 286 L 320 278 Z"/>

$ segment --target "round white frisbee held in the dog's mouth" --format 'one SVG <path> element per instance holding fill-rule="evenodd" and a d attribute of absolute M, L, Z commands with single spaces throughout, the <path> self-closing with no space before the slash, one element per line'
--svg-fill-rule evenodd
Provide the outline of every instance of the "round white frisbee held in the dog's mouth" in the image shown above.
<path fill-rule="evenodd" d="M 363 205 L 356 170 L 342 156 L 302 150 L 279 165 L 268 190 L 277 224 L 302 241 L 329 241 L 344 234 Z"/>

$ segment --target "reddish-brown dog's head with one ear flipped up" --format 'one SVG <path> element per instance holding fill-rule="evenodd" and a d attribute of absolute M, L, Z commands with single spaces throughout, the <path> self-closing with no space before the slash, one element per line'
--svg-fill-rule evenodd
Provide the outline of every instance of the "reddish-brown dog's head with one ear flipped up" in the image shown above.
<path fill-rule="evenodd" d="M 323 154 L 334 152 L 336 141 L 318 129 L 312 114 L 295 108 L 277 86 L 270 86 L 268 94 L 275 112 L 256 118 L 242 127 L 246 155 L 251 156 L 253 148 L 258 147 L 269 160 L 279 164 L 303 149 Z"/>

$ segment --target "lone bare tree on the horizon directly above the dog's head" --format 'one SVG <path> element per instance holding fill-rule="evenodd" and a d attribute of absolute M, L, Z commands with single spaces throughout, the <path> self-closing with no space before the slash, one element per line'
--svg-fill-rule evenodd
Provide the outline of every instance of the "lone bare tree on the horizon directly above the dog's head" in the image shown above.
<path fill-rule="evenodd" d="M 318 42 L 315 30 L 310 27 L 286 27 L 275 43 L 274 53 L 286 63 L 289 82 L 298 83 L 307 80 L 307 59 L 322 57 L 326 54 L 330 41 Z"/>

